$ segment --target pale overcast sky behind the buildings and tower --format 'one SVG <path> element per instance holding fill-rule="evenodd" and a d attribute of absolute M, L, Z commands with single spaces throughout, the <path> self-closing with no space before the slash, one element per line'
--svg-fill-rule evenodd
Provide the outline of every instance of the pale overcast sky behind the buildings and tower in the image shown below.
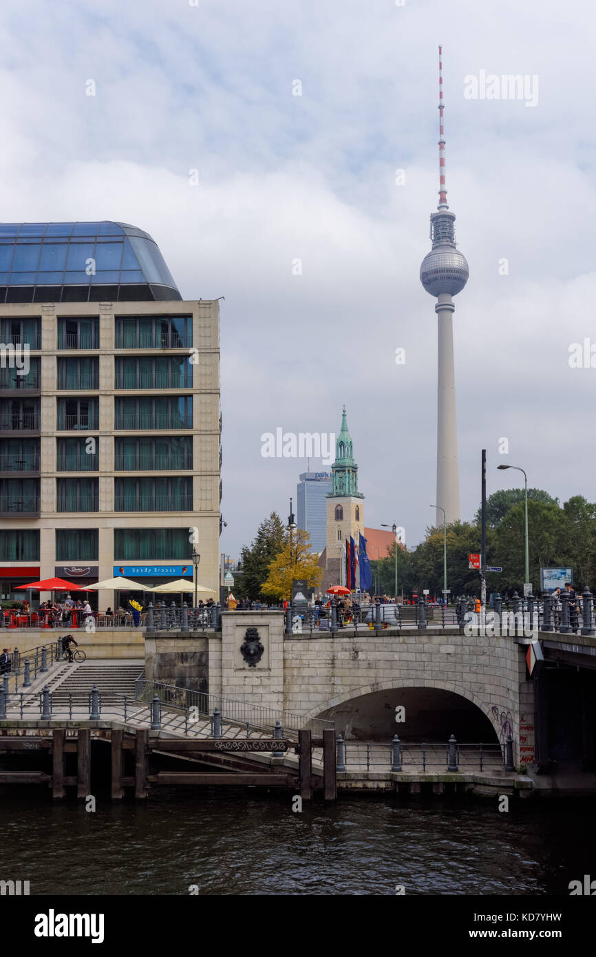
<path fill-rule="evenodd" d="M 483 447 L 489 494 L 519 485 L 508 463 L 594 501 L 596 368 L 568 359 L 596 344 L 595 19 L 559 0 L 3 0 L 0 219 L 133 223 L 185 299 L 225 296 L 222 551 L 285 519 L 306 469 L 262 457 L 261 434 L 337 433 L 343 403 L 365 523 L 403 525 L 411 546 L 434 519 L 436 317 L 418 274 L 439 43 L 470 263 L 453 322 L 462 519 Z M 481 71 L 527 76 L 538 102 L 468 99 Z"/>

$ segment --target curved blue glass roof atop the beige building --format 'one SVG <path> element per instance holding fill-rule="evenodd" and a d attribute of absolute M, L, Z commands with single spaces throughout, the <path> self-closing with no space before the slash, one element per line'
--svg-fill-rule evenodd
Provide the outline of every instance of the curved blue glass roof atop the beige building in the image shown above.
<path fill-rule="evenodd" d="M 0 302 L 181 300 L 157 243 L 128 223 L 0 223 Z"/>

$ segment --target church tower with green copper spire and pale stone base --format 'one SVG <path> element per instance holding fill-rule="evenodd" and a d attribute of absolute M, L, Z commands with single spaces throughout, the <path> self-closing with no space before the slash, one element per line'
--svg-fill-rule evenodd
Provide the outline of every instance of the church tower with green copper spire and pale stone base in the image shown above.
<path fill-rule="evenodd" d="M 343 546 L 350 535 L 358 545 L 364 535 L 364 495 L 358 491 L 358 465 L 354 461 L 352 439 L 347 431 L 345 406 L 342 429 L 336 441 L 335 462 L 331 466 L 332 486 L 327 494 L 327 546 L 323 585 L 340 585 Z"/>

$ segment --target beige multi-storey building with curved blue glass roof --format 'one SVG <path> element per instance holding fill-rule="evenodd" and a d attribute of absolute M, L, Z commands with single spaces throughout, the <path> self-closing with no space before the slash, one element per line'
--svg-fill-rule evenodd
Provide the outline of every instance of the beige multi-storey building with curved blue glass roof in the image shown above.
<path fill-rule="evenodd" d="M 0 224 L 0 353 L 2 598 L 191 579 L 193 545 L 217 592 L 218 302 L 124 223 Z"/>

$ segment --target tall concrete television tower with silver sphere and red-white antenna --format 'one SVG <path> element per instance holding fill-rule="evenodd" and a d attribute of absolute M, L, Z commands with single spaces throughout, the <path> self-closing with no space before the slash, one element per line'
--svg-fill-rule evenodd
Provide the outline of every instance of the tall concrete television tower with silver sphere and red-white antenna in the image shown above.
<path fill-rule="evenodd" d="M 420 281 L 436 297 L 438 326 L 438 377 L 436 421 L 436 503 L 445 509 L 449 524 L 459 519 L 459 466 L 455 422 L 455 372 L 453 367 L 453 296 L 468 281 L 466 257 L 455 248 L 455 213 L 447 205 L 445 185 L 445 127 L 443 122 L 443 63 L 439 47 L 439 205 L 430 213 L 432 249 L 422 260 Z M 442 523 L 437 508 L 436 526 Z"/>

